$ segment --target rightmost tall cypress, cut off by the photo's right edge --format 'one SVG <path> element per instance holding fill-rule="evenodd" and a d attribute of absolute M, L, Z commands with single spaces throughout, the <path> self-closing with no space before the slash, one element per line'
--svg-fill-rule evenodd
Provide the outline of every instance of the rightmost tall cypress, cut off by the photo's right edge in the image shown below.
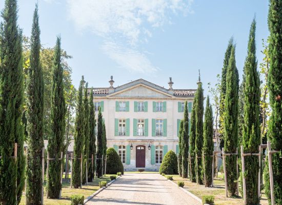
<path fill-rule="evenodd" d="M 270 69 L 268 74 L 269 101 L 272 109 L 268 140 L 271 141 L 271 149 L 280 154 L 272 155 L 272 169 L 274 182 L 275 203 L 282 204 L 282 1 L 270 0 L 268 26 L 270 31 L 269 55 Z M 268 164 L 268 163 L 267 163 Z M 268 172 L 268 167 L 266 167 Z M 267 180 L 269 181 L 269 176 Z M 266 194 L 270 198 L 269 183 L 266 183 Z"/>

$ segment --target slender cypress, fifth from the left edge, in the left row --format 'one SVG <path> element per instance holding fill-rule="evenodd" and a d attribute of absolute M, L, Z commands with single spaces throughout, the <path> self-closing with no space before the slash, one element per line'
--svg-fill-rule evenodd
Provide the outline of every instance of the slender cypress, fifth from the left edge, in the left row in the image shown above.
<path fill-rule="evenodd" d="M 84 107 L 84 162 L 83 162 L 83 180 L 82 183 L 85 185 L 86 183 L 86 164 L 87 168 L 90 167 L 90 161 L 88 160 L 89 155 L 89 137 L 90 137 L 90 128 L 89 128 L 89 102 L 88 102 L 88 83 L 86 83 L 85 89 L 84 89 L 84 99 L 83 99 L 83 107 Z"/>

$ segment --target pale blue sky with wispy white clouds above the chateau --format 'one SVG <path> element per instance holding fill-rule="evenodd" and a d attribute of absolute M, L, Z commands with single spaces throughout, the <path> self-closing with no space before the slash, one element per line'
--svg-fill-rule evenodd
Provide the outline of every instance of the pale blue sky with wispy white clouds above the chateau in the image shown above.
<path fill-rule="evenodd" d="M 36 2 L 41 43 L 53 47 L 61 34 L 76 88 L 82 75 L 90 87 L 109 87 L 113 75 L 114 87 L 143 78 L 169 88 L 172 77 L 174 89 L 196 89 L 200 70 L 208 95 L 231 36 L 241 78 L 254 16 L 258 65 L 269 35 L 267 0 L 18 0 L 26 36 Z"/>

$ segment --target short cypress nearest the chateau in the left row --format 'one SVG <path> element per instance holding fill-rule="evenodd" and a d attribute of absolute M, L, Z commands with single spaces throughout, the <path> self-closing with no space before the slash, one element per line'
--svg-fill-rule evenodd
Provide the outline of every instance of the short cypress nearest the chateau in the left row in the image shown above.
<path fill-rule="evenodd" d="M 101 108 L 98 111 L 97 122 L 97 159 L 96 159 L 96 173 L 98 177 L 102 177 L 102 155 L 103 155 L 103 118 Z"/>

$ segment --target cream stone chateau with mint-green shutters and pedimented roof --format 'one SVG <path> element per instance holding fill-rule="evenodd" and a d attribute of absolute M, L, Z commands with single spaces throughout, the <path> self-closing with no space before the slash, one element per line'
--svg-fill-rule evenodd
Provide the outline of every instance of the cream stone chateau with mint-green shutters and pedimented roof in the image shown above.
<path fill-rule="evenodd" d="M 187 100 L 191 118 L 196 90 L 173 89 L 171 78 L 169 89 L 144 79 L 114 88 L 111 76 L 109 83 L 109 88 L 93 90 L 95 111 L 101 107 L 105 120 L 107 147 L 116 150 L 127 171 L 158 170 L 169 150 L 178 153 L 184 104 Z"/>

